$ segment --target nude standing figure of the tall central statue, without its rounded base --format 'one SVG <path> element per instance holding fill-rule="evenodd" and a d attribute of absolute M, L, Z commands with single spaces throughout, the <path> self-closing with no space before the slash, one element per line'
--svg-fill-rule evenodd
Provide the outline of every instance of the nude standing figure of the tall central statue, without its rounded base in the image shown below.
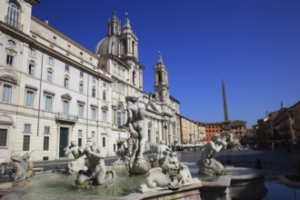
<path fill-rule="evenodd" d="M 133 138 L 137 138 L 136 159 L 143 159 L 145 141 L 147 139 L 147 126 L 145 120 L 145 105 L 140 103 L 138 95 L 127 98 L 127 121 L 123 125 L 129 129 Z"/>

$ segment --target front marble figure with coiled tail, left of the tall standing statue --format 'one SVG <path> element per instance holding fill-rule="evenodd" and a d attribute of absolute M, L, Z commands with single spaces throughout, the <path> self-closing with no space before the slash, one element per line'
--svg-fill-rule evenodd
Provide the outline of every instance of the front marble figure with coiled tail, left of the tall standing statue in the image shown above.
<path fill-rule="evenodd" d="M 86 170 L 77 173 L 75 185 L 109 185 L 115 180 L 115 171 L 106 170 L 105 156 L 95 146 L 95 138 L 89 137 L 85 146 L 78 149 L 79 155 L 86 156 Z"/>

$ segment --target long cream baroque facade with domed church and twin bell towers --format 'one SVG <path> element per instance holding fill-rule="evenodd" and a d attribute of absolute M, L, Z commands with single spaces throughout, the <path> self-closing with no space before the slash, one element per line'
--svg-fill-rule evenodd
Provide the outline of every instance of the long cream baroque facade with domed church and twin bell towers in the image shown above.
<path fill-rule="evenodd" d="M 71 141 L 94 136 L 105 155 L 128 137 L 125 97 L 145 104 L 148 142 L 180 143 L 179 104 L 169 95 L 162 56 L 155 92 L 143 90 L 138 38 L 114 12 L 107 36 L 91 52 L 31 15 L 39 0 L 0 1 L 0 163 L 32 153 L 33 161 L 63 158 Z"/>

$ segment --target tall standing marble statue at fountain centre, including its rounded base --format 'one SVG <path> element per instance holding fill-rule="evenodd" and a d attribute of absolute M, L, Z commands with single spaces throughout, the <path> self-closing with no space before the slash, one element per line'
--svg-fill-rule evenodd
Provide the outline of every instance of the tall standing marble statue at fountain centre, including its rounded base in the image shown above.
<path fill-rule="evenodd" d="M 145 141 L 147 139 L 147 125 L 145 119 L 145 105 L 140 103 L 138 95 L 126 97 L 127 122 L 122 125 L 130 134 L 127 148 L 121 152 L 128 172 L 131 175 L 144 175 L 150 170 L 150 162 L 145 159 Z"/>

